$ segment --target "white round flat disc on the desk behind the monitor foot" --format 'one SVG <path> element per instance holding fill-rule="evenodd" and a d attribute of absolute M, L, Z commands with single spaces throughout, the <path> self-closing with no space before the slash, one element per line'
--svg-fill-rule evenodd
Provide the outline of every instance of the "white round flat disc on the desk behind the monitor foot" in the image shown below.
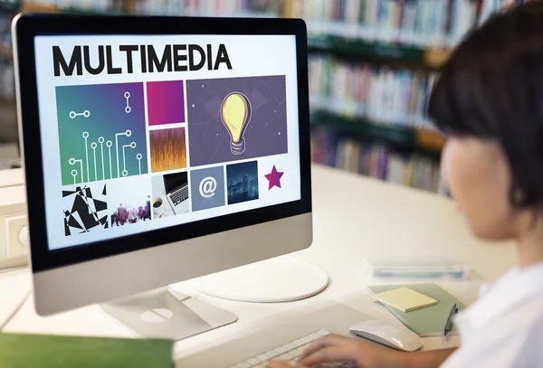
<path fill-rule="evenodd" d="M 228 269 L 186 285 L 209 297 L 249 303 L 281 303 L 312 297 L 329 285 L 322 269 L 290 256 Z M 170 288 L 176 289 L 176 285 Z"/>

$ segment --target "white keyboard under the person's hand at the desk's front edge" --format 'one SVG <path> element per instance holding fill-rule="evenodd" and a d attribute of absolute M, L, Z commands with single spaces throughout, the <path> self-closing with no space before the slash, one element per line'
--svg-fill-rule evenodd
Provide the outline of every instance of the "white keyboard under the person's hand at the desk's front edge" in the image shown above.
<path fill-rule="evenodd" d="M 318 340 L 320 337 L 329 335 L 330 333 L 325 330 L 319 330 L 309 335 L 301 336 L 290 343 L 283 344 L 271 349 L 265 353 L 258 354 L 244 360 L 243 362 L 234 364 L 230 368 L 265 368 L 266 364 L 273 360 L 283 360 L 291 363 L 292 366 L 296 365 L 301 354 L 303 354 L 304 349 Z M 320 368 L 356 368 L 356 365 L 353 363 L 323 363 L 318 365 Z"/>

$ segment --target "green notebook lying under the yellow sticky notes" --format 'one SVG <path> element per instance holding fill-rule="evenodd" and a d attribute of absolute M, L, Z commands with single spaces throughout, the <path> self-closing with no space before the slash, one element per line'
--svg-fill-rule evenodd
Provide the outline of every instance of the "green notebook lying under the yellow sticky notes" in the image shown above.
<path fill-rule="evenodd" d="M 443 329 L 451 307 L 456 303 L 459 311 L 465 309 L 466 306 L 460 300 L 453 297 L 443 288 L 435 284 L 413 284 L 413 285 L 378 285 L 368 287 L 372 295 L 383 293 L 397 288 L 410 288 L 427 297 L 432 297 L 437 300 L 437 304 L 432 307 L 425 307 L 411 312 L 402 312 L 395 307 L 383 304 L 396 318 L 398 318 L 405 326 L 411 329 L 415 334 L 421 337 L 443 335 Z M 458 331 L 452 325 L 452 331 L 449 335 L 458 335 Z"/>

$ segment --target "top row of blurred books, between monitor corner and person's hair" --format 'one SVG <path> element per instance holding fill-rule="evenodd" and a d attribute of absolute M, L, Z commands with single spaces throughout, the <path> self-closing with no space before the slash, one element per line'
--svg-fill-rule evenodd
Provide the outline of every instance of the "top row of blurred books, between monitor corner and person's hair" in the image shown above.
<path fill-rule="evenodd" d="M 452 47 L 513 0 L 297 0 L 291 14 L 312 34 Z"/>

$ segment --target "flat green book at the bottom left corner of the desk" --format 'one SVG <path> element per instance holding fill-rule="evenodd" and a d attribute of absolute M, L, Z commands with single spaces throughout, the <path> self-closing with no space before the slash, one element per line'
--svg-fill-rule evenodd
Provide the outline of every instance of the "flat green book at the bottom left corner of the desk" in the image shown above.
<path fill-rule="evenodd" d="M 174 342 L 0 334 L 2 368 L 171 368 Z"/>

